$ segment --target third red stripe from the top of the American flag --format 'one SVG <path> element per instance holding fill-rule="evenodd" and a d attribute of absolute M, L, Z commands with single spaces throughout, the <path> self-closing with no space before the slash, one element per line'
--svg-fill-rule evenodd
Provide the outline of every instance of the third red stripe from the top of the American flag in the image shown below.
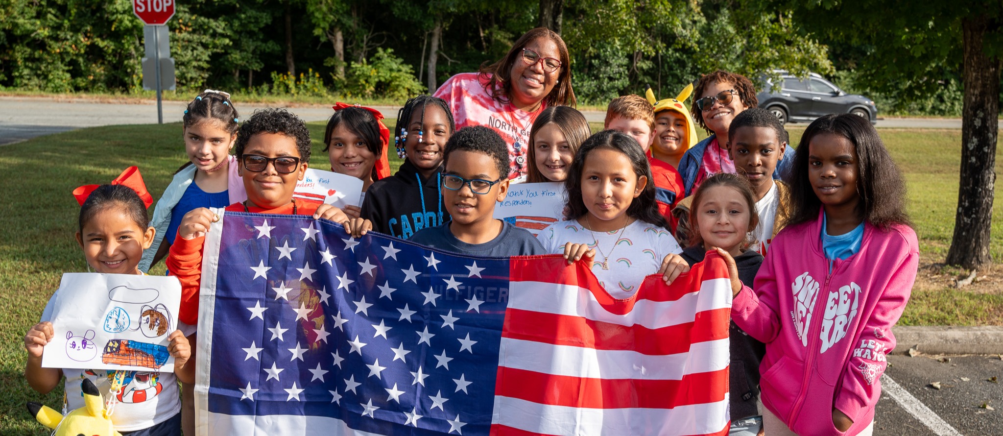
<path fill-rule="evenodd" d="M 727 368 L 687 374 L 682 380 L 638 380 L 556 376 L 501 367 L 497 380 L 494 395 L 590 409 L 672 409 L 723 401 L 728 393 Z"/>

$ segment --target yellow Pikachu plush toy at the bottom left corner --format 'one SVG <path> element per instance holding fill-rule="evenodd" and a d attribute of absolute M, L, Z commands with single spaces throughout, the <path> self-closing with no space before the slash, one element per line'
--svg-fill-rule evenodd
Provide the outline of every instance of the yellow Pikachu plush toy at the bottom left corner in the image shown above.
<path fill-rule="evenodd" d="M 90 380 L 83 379 L 84 406 L 66 416 L 38 403 L 28 403 L 28 412 L 42 425 L 53 429 L 52 436 L 121 436 L 104 410 L 104 399 Z"/>

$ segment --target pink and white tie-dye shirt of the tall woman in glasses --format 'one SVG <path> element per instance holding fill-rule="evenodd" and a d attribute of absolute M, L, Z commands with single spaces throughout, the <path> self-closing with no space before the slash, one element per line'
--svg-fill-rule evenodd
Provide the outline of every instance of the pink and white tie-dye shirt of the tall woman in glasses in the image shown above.
<path fill-rule="evenodd" d="M 456 130 L 468 125 L 483 125 L 498 132 L 509 145 L 512 171 L 509 178 L 526 174 L 526 159 L 533 121 L 547 107 L 544 102 L 536 112 L 516 108 L 512 103 L 491 98 L 484 89 L 490 76 L 460 73 L 449 77 L 435 90 L 435 96 L 445 100 L 456 121 Z"/>

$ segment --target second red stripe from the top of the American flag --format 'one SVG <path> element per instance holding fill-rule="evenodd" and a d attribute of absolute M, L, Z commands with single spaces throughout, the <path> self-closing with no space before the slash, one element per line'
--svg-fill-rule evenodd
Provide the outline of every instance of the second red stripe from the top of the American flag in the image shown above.
<path fill-rule="evenodd" d="M 692 323 L 648 329 L 510 308 L 501 337 L 660 356 L 685 353 L 692 343 L 727 338 L 730 317 L 730 309 L 715 309 L 697 313 Z"/>

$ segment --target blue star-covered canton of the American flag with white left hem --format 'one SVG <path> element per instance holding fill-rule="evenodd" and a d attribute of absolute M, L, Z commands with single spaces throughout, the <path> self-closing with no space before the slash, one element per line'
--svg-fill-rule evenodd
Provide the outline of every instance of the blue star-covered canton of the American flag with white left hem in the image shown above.
<path fill-rule="evenodd" d="M 507 260 L 305 216 L 222 226 L 201 297 L 209 434 L 488 434 Z"/>

